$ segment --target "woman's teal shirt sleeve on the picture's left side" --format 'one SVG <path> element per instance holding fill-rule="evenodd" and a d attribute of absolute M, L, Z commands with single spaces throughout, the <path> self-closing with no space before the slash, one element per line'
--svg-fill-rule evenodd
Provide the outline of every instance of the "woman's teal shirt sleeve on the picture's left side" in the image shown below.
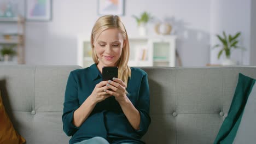
<path fill-rule="evenodd" d="M 67 136 L 74 135 L 74 133 L 79 129 L 73 124 L 74 111 L 77 110 L 78 107 L 77 81 L 75 81 L 73 73 L 71 72 L 67 80 L 62 115 L 63 130 Z"/>

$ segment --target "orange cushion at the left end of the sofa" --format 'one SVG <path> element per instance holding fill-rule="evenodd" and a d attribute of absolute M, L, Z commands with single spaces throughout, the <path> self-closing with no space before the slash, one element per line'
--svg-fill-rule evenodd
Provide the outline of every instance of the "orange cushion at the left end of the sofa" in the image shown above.
<path fill-rule="evenodd" d="M 0 92 L 0 143 L 18 144 L 26 140 L 14 129 L 7 113 L 5 112 Z"/>

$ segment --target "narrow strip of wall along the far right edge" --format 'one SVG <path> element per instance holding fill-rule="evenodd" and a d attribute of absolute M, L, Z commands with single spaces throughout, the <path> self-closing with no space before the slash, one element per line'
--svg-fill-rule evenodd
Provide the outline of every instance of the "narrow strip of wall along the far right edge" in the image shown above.
<path fill-rule="evenodd" d="M 256 1 L 251 3 L 251 55 L 250 65 L 256 65 Z"/>

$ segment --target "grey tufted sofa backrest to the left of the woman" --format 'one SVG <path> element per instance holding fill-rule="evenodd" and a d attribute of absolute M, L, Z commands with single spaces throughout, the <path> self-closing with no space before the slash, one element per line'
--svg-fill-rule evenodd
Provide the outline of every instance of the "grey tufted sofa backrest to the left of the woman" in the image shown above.
<path fill-rule="evenodd" d="M 68 65 L 1 65 L 0 91 L 15 129 L 27 143 L 68 143 L 62 129 Z"/>

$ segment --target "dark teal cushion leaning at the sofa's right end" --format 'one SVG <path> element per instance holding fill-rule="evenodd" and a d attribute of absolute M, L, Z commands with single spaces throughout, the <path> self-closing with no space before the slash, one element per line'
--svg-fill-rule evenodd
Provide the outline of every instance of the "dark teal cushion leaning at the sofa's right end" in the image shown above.
<path fill-rule="evenodd" d="M 234 141 L 237 129 L 240 127 L 247 99 L 249 95 L 251 95 L 254 83 L 255 79 L 239 73 L 235 94 L 232 99 L 228 116 L 225 118 L 222 127 L 220 127 L 214 143 L 232 143 Z"/>

